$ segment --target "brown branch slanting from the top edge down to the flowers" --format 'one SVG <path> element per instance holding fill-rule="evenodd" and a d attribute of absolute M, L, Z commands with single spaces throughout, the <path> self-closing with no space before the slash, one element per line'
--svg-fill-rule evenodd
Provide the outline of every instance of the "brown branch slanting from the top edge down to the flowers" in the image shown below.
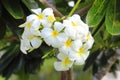
<path fill-rule="evenodd" d="M 48 3 L 46 0 L 39 0 L 39 1 L 40 1 L 43 5 L 52 8 L 55 16 L 57 16 L 57 17 L 63 17 L 62 13 L 60 13 L 53 5 L 51 5 L 50 3 Z"/>

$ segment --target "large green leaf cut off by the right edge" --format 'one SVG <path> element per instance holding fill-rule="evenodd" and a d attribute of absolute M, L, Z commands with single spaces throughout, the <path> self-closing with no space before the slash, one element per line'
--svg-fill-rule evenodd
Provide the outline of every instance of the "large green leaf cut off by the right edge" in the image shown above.
<path fill-rule="evenodd" d="M 111 0 L 107 8 L 105 24 L 112 35 L 120 34 L 120 0 Z"/>

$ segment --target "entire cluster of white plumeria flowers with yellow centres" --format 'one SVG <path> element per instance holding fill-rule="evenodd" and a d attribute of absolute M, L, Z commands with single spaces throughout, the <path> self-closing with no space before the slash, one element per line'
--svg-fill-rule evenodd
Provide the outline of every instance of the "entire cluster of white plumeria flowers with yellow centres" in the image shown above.
<path fill-rule="evenodd" d="M 54 63 L 57 71 L 66 71 L 75 65 L 84 64 L 89 55 L 94 39 L 89 27 L 79 15 L 59 22 L 53 10 L 46 8 L 32 9 L 34 14 L 27 17 L 26 22 L 19 27 L 24 27 L 20 49 L 27 54 L 28 50 L 40 47 L 44 41 L 47 45 L 57 48 L 59 61 Z"/>

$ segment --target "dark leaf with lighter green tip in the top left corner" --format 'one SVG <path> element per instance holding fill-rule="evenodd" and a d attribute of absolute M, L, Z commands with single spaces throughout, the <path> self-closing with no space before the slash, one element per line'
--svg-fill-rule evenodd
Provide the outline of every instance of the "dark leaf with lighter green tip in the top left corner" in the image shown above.
<path fill-rule="evenodd" d="M 1 0 L 5 9 L 15 18 L 22 19 L 24 17 L 23 10 L 19 0 Z"/>

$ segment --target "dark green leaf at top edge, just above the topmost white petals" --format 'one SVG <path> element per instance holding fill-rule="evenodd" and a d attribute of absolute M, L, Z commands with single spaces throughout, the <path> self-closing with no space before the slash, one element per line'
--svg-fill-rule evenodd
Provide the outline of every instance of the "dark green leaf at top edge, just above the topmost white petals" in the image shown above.
<path fill-rule="evenodd" d="M 22 0 L 22 2 L 29 10 L 39 8 L 38 3 L 35 0 Z"/>

